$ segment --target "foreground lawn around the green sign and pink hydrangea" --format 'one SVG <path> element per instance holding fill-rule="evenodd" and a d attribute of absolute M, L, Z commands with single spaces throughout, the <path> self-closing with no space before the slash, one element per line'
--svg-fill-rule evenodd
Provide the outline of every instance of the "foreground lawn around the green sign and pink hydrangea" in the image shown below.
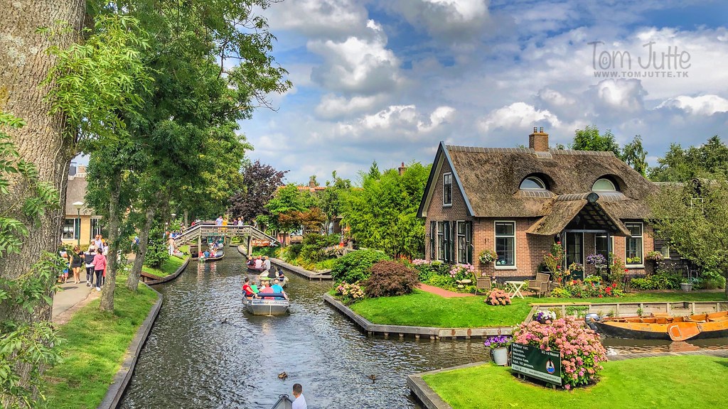
<path fill-rule="evenodd" d="M 454 409 L 725 408 L 728 359 L 705 355 L 604 362 L 601 381 L 573 392 L 515 378 L 492 364 L 422 378 Z"/>

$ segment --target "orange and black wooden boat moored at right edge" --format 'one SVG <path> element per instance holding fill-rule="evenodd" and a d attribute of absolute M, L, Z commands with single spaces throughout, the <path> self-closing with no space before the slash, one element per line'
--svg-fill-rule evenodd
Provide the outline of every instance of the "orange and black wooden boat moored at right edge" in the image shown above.
<path fill-rule="evenodd" d="M 606 317 L 594 324 L 600 333 L 618 338 L 686 341 L 728 337 L 728 311 L 687 317 Z"/>

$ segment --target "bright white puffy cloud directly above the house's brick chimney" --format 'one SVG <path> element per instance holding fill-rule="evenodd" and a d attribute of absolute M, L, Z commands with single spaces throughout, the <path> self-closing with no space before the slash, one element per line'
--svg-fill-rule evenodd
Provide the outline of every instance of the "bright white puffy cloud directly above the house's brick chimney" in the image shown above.
<path fill-rule="evenodd" d="M 498 128 L 510 128 L 517 131 L 529 130 L 537 123 L 547 122 L 559 126 L 558 118 L 548 110 L 539 111 L 527 103 L 517 102 L 491 111 L 478 122 L 478 129 L 488 132 Z"/>

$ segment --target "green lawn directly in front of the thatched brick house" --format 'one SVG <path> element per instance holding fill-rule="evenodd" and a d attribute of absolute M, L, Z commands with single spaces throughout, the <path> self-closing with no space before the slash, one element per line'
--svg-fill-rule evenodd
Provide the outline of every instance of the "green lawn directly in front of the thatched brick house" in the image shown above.
<path fill-rule="evenodd" d="M 332 290 L 333 292 L 333 290 Z M 501 327 L 523 322 L 531 303 L 630 303 L 649 301 L 725 301 L 724 293 L 633 293 L 620 298 L 514 298 L 510 306 L 491 306 L 484 296 L 443 298 L 414 290 L 397 297 L 366 298 L 349 306 L 373 324 L 414 327 Z"/>

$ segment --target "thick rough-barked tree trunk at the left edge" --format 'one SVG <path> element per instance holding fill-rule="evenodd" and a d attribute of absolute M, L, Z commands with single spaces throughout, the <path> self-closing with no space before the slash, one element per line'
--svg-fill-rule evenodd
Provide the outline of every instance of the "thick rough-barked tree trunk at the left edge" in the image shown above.
<path fill-rule="evenodd" d="M 55 57 L 46 50 L 52 46 L 68 47 L 78 41 L 84 23 L 85 0 L 0 0 L 0 112 L 13 114 L 25 120 L 20 129 L 7 129 L 20 158 L 36 165 L 39 180 L 50 183 L 60 192 L 58 209 L 46 211 L 39 223 L 31 223 L 22 215 L 12 214 L 28 227 L 19 254 L 4 257 L 0 262 L 0 279 L 17 279 L 38 261 L 44 251 L 55 253 L 60 242 L 60 225 L 66 200 L 68 164 L 74 156 L 74 140 L 64 134 L 66 122 L 62 114 L 50 116 L 50 103 L 44 100 L 48 87 L 39 87 Z M 66 21 L 73 30 L 58 36 L 42 36 L 39 27 L 53 27 L 57 21 Z M 0 214 L 3 214 L 20 196 L 22 186 L 10 178 L 10 194 L 0 195 Z M 48 295 L 52 297 L 50 290 Z M 17 304 L 0 303 L 0 321 L 18 323 L 50 321 L 51 305 L 41 302 L 32 312 L 18 309 Z M 20 364 L 16 368 L 21 376 L 19 386 L 28 386 L 28 373 L 32 365 Z M 39 365 L 43 370 L 44 365 Z M 3 408 L 20 402 L 4 399 Z"/>

